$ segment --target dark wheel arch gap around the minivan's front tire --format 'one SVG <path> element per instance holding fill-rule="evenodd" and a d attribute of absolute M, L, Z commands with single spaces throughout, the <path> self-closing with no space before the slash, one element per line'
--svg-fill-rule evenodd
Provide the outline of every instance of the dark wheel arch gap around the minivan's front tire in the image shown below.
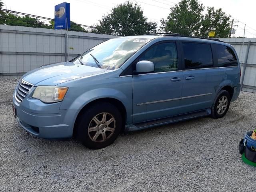
<path fill-rule="evenodd" d="M 87 103 L 79 112 L 78 115 L 76 116 L 76 120 L 74 123 L 74 128 L 73 128 L 73 136 L 76 136 L 76 132 L 77 132 L 77 123 L 78 120 L 81 116 L 81 114 L 88 108 L 90 108 L 91 106 L 93 106 L 96 103 L 99 102 L 108 102 L 113 104 L 114 106 L 116 106 L 118 108 L 118 110 L 120 110 L 121 116 L 122 116 L 122 129 L 124 129 L 125 123 L 126 123 L 126 119 L 127 119 L 127 111 L 126 108 L 124 106 L 124 104 L 116 99 L 116 98 L 111 98 L 111 97 L 106 97 L 106 98 L 98 98 L 95 100 L 90 101 L 89 103 Z"/>

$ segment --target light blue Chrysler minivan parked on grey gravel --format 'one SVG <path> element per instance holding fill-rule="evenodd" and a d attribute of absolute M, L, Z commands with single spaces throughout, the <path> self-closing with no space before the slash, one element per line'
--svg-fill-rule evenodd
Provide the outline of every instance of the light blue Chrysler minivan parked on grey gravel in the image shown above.
<path fill-rule="evenodd" d="M 240 64 L 230 44 L 178 34 L 128 36 L 26 73 L 13 113 L 38 137 L 76 136 L 98 149 L 122 130 L 221 118 L 239 92 Z"/>

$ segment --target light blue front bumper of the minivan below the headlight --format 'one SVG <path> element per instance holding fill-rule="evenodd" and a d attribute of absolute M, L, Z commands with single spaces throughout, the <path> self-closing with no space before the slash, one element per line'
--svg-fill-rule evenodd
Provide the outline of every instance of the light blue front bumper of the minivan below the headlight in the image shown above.
<path fill-rule="evenodd" d="M 28 132 L 42 138 L 70 138 L 78 109 L 59 110 L 61 102 L 45 104 L 34 98 L 18 102 L 13 96 L 16 119 Z"/>

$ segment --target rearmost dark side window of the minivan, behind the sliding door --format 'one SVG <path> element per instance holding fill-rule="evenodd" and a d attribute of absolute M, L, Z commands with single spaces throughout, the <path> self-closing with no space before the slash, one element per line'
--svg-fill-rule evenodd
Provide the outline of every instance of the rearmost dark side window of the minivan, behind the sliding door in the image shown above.
<path fill-rule="evenodd" d="M 237 66 L 237 59 L 234 51 L 225 45 L 216 45 L 218 56 L 218 67 Z"/>

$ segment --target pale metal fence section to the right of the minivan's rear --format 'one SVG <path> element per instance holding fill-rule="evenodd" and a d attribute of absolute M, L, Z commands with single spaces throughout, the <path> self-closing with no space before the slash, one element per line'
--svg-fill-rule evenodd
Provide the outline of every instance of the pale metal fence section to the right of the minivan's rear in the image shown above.
<path fill-rule="evenodd" d="M 235 48 L 241 63 L 242 74 L 246 49 L 248 42 L 251 41 L 242 90 L 256 92 L 256 38 L 244 38 L 244 46 L 242 46 L 243 38 L 222 38 L 220 40 L 231 44 Z"/>

